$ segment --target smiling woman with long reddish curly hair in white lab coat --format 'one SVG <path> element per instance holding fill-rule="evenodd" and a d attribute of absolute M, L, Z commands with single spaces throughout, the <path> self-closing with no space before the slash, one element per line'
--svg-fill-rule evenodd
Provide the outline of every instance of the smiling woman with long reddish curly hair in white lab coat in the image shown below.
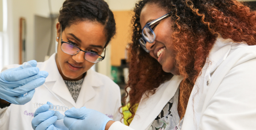
<path fill-rule="evenodd" d="M 66 127 L 256 128 L 255 11 L 236 0 L 141 0 L 134 12 L 129 127 L 84 107 L 65 112 Z"/>

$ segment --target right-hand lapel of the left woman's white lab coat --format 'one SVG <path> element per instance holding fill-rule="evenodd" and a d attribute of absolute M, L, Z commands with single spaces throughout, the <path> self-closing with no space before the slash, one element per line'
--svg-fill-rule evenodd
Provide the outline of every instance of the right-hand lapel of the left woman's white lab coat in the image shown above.
<path fill-rule="evenodd" d="M 91 69 L 87 70 L 78 99 L 76 100 L 77 107 L 83 107 L 87 101 L 91 100 L 96 95 L 96 87 L 102 85 L 101 80 L 97 79 L 96 72 Z"/>

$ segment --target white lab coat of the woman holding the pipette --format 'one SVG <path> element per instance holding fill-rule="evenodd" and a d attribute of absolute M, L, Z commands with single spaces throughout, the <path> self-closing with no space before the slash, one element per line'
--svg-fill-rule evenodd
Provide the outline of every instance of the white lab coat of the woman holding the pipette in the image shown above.
<path fill-rule="evenodd" d="M 17 64 L 9 65 L 3 70 L 18 66 Z M 45 62 L 38 62 L 37 67 L 49 73 L 45 84 L 66 106 L 95 109 L 113 120 L 121 119 L 121 114 L 119 114 L 119 107 L 121 106 L 120 88 L 107 76 L 89 69 L 82 83 L 78 99 L 74 102 L 59 74 L 55 54 Z M 47 101 L 63 106 L 44 86 L 40 86 L 36 88 L 32 100 L 25 105 L 11 104 L 10 107 L 0 109 L 0 130 L 33 130 L 31 121 L 36 108 L 32 103 L 46 103 Z M 61 113 L 64 114 L 64 112 Z"/>

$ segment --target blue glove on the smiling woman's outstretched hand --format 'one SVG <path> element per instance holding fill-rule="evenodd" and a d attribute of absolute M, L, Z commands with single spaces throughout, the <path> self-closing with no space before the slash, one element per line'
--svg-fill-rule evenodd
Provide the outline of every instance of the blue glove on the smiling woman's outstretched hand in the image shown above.
<path fill-rule="evenodd" d="M 64 124 L 69 130 L 105 130 L 108 121 L 105 114 L 86 107 L 71 108 L 65 112 Z"/>

